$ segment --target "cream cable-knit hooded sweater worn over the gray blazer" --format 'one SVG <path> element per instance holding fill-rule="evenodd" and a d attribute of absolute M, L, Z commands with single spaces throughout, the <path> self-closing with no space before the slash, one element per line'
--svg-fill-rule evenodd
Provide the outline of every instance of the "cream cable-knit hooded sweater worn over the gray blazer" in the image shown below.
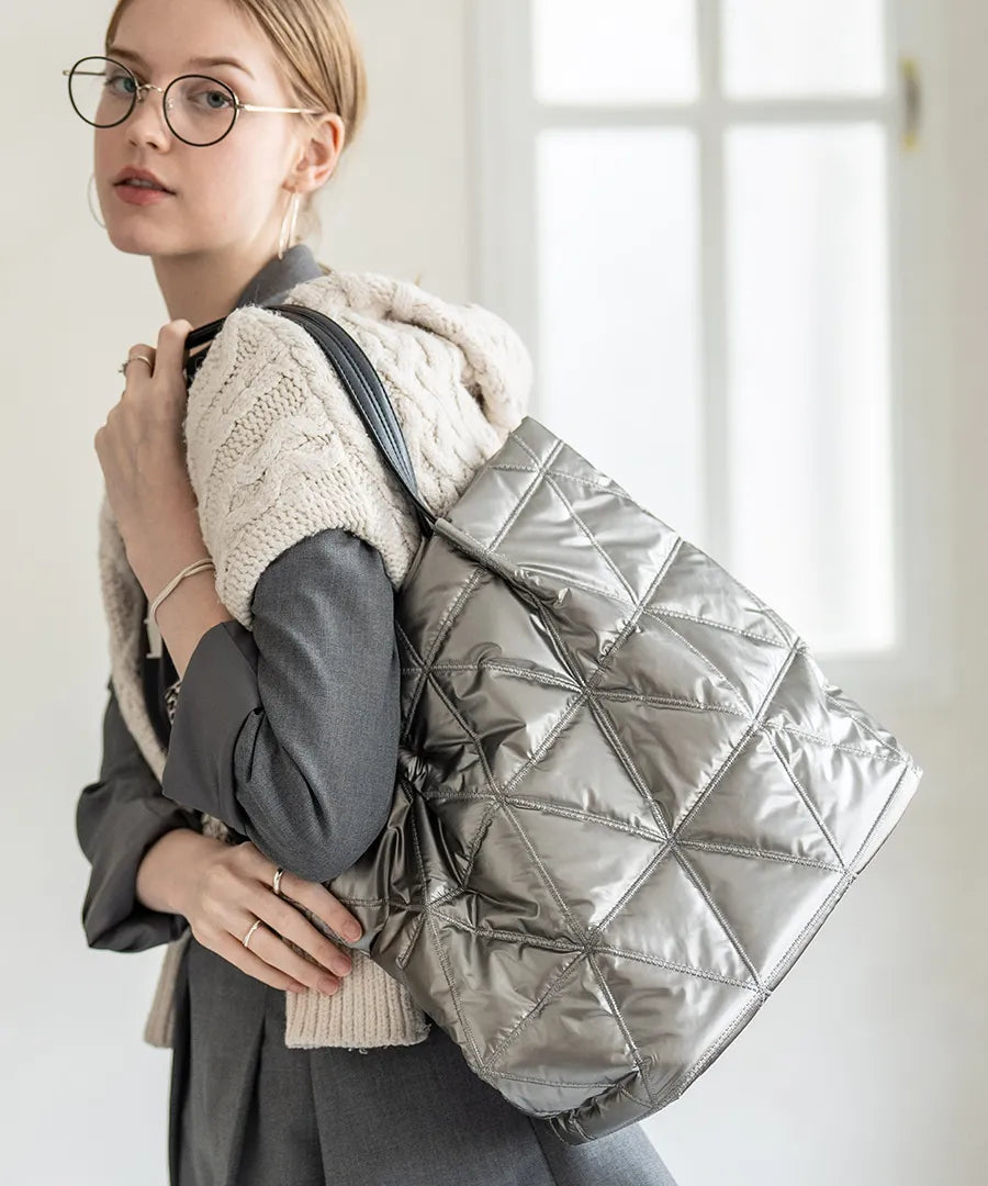
<path fill-rule="evenodd" d="M 421 496 L 436 515 L 525 414 L 531 359 L 490 310 L 385 275 L 336 270 L 297 285 L 283 304 L 320 310 L 358 342 L 381 376 Z M 185 435 L 217 593 L 244 626 L 251 626 L 251 594 L 267 565 L 324 528 L 345 528 L 371 543 L 393 586 L 401 586 L 421 538 L 417 519 L 332 366 L 287 318 L 254 305 L 230 313 L 190 385 Z M 120 710 L 160 780 L 167 751 L 144 702 L 142 592 L 106 495 L 100 580 Z M 203 814 L 203 831 L 224 839 L 228 829 Z M 190 935 L 166 948 L 144 1033 L 151 1045 L 172 1045 L 176 974 Z M 286 1045 L 422 1041 L 428 1019 L 407 989 L 364 952 L 351 955 L 352 971 L 332 996 L 286 991 Z"/>

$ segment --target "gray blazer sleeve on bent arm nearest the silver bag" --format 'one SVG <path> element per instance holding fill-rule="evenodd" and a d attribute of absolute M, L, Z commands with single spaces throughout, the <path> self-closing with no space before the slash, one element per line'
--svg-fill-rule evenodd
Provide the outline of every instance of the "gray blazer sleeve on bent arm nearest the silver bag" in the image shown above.
<path fill-rule="evenodd" d="M 310 881 L 384 827 L 401 728 L 394 589 L 381 554 L 327 528 L 261 573 L 253 631 L 211 626 L 181 680 L 162 792 Z"/>

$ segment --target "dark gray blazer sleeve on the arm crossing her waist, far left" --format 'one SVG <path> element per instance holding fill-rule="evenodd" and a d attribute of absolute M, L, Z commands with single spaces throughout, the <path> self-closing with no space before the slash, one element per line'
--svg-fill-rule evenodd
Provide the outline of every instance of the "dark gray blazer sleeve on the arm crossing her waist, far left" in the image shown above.
<path fill-rule="evenodd" d="M 193 811 L 162 797 L 123 721 L 113 683 L 107 687 L 100 777 L 82 789 L 76 804 L 76 836 L 91 867 L 82 926 L 90 948 L 144 951 L 177 939 L 189 924 L 181 914 L 149 910 L 138 900 L 138 868 L 165 833 L 202 827 Z"/>

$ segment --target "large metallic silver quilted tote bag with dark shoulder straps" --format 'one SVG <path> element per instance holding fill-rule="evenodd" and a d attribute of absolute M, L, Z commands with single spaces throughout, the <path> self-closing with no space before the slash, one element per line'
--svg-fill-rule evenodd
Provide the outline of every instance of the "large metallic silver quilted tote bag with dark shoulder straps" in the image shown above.
<path fill-rule="evenodd" d="M 888 837 L 922 769 L 770 606 L 533 417 L 452 510 L 342 326 L 415 505 L 387 827 L 329 884 L 511 1104 L 581 1143 L 676 1099 Z"/>

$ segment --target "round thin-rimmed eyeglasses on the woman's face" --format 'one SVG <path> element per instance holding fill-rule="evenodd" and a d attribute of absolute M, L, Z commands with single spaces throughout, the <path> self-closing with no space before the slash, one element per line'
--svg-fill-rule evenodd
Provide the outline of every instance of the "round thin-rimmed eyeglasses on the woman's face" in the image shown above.
<path fill-rule="evenodd" d="M 69 76 L 69 102 L 76 114 L 96 128 L 113 128 L 122 123 L 146 91 L 160 90 L 165 122 L 171 132 L 185 144 L 199 148 L 215 145 L 229 135 L 241 111 L 320 114 L 311 107 L 242 103 L 232 87 L 209 75 L 180 75 L 164 88 L 149 82 L 139 83 L 133 70 L 114 58 L 79 58 L 62 74 Z"/>

